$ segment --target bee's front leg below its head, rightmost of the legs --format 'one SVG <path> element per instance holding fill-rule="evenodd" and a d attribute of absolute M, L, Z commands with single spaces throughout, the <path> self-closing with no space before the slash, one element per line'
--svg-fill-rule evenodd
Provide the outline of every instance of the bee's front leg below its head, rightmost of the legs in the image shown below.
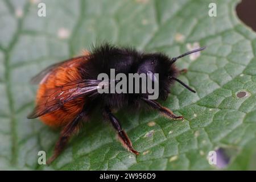
<path fill-rule="evenodd" d="M 154 100 L 148 100 L 147 98 L 143 98 L 143 97 L 141 99 L 144 102 L 146 102 L 148 105 L 150 105 L 152 108 L 159 110 L 161 114 L 163 114 L 168 118 L 182 119 L 182 120 L 184 119 L 182 115 L 180 116 L 175 115 L 170 109 L 163 107 L 162 105 L 160 105 L 158 102 Z"/>

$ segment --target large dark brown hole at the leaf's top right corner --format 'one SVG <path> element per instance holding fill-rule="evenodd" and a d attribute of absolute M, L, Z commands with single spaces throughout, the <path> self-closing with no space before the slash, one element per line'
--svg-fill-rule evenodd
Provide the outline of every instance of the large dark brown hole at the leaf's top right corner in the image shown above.
<path fill-rule="evenodd" d="M 236 11 L 242 22 L 256 31 L 256 1 L 242 0 L 237 5 Z"/>

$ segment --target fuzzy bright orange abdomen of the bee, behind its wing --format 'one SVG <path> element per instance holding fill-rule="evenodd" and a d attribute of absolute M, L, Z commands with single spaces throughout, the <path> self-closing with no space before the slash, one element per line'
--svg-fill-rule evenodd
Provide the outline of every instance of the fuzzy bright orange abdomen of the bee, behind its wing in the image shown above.
<path fill-rule="evenodd" d="M 47 91 L 69 82 L 80 80 L 79 67 L 84 61 L 68 61 L 55 68 L 51 73 L 46 75 L 40 82 L 39 89 L 36 95 L 36 102 L 46 99 Z M 82 106 L 85 104 L 85 98 L 80 97 L 68 101 L 60 109 L 42 115 L 40 119 L 46 125 L 60 127 L 71 122 L 77 114 L 80 113 Z"/>

